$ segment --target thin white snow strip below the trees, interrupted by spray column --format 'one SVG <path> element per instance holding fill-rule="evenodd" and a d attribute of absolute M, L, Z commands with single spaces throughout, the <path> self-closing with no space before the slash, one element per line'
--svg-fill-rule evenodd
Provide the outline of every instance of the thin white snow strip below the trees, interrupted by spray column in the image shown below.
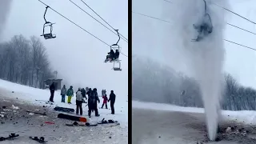
<path fill-rule="evenodd" d="M 146 110 L 162 110 L 162 111 L 178 111 L 186 113 L 204 113 L 204 109 L 195 107 L 182 107 L 174 106 L 162 103 L 154 102 L 138 102 L 133 101 L 134 108 L 146 109 Z M 256 111 L 253 110 L 241 110 L 241 111 L 230 111 L 222 110 L 223 120 L 230 120 L 236 122 L 243 122 L 245 124 L 256 124 Z"/>

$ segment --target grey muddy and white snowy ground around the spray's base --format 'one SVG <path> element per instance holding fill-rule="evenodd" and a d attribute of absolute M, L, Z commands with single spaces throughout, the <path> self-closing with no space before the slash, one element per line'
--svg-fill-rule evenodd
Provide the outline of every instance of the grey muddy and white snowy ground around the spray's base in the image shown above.
<path fill-rule="evenodd" d="M 134 143 L 202 144 L 207 143 L 206 118 L 202 108 L 173 106 L 154 102 L 132 102 L 132 136 Z M 218 144 L 254 144 L 255 111 L 222 111 Z M 226 134 L 228 126 L 248 130 L 246 136 Z"/>

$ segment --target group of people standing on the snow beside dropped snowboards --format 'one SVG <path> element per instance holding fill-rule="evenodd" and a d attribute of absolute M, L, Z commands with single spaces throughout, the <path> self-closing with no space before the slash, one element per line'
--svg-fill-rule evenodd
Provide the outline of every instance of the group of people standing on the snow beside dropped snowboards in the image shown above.
<path fill-rule="evenodd" d="M 50 102 L 54 102 L 54 90 L 55 85 L 54 82 L 50 85 Z M 62 102 L 65 102 L 66 96 L 68 97 L 67 102 L 71 104 L 71 98 L 74 96 L 74 90 L 73 86 L 70 86 L 68 90 L 66 90 L 66 86 L 64 85 L 61 90 L 62 95 Z M 87 97 L 86 97 L 87 95 Z M 115 94 L 114 90 L 111 90 L 110 92 L 110 98 L 107 98 L 106 90 L 102 90 L 102 108 L 105 105 L 107 109 L 107 102 L 110 102 L 111 107 L 111 114 L 114 114 L 114 102 L 115 102 Z M 100 114 L 98 114 L 98 103 L 100 103 L 100 99 L 98 98 L 98 92 L 97 89 L 94 88 L 93 90 L 91 88 L 86 87 L 84 88 L 78 88 L 78 91 L 76 92 L 76 114 L 82 115 L 82 103 L 86 103 L 85 99 L 88 99 L 88 116 L 90 117 L 91 112 L 95 111 L 95 116 L 98 117 Z"/>

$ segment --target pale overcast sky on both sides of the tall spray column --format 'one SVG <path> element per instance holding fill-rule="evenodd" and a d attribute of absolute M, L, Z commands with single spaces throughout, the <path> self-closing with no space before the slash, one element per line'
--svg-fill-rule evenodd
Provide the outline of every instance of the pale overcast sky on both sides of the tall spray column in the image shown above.
<path fill-rule="evenodd" d="M 172 1 L 172 0 L 170 0 Z M 163 0 L 140 0 L 133 1 L 133 11 L 147 14 L 156 18 L 162 18 L 171 22 L 170 12 L 172 6 L 169 2 Z M 256 1 L 254 0 L 230 0 L 230 10 L 249 18 L 256 22 Z M 245 19 L 239 18 L 237 15 L 228 12 L 227 22 L 240 26 L 246 30 L 256 33 L 256 26 Z M 155 60 L 166 63 L 175 70 L 181 70 L 186 74 L 190 71 L 183 65 L 182 54 L 170 54 L 170 59 L 173 62 L 167 61 L 163 57 L 162 38 L 166 33 L 171 34 L 174 29 L 170 23 L 160 22 L 152 18 L 146 18 L 138 14 L 133 14 L 133 54 L 142 54 L 150 56 Z M 172 35 L 175 37 L 175 35 Z M 247 33 L 237 28 L 226 26 L 225 38 L 241 43 L 245 46 L 250 46 L 256 49 L 256 35 Z M 237 46 L 229 42 L 225 42 L 226 62 L 224 69 L 232 74 L 244 86 L 252 86 L 256 88 L 256 54 L 254 50 L 246 49 L 245 47 Z M 165 54 L 166 55 L 166 54 Z M 168 54 L 167 54 L 168 55 Z"/>

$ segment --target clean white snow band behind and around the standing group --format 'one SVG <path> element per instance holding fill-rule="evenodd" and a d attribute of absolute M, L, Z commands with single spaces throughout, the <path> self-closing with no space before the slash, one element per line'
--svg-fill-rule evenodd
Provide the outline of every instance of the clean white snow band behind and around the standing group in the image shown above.
<path fill-rule="evenodd" d="M 12 93 L 14 91 L 14 93 Z M 76 90 L 74 90 L 76 91 Z M 21 102 L 27 102 L 29 104 L 34 105 L 46 105 L 45 102 L 38 102 L 35 101 L 35 99 L 38 100 L 44 100 L 48 101 L 50 98 L 50 90 L 40 90 L 29 86 L 22 86 L 17 83 L 13 82 L 7 82 L 2 79 L 0 79 L 0 92 L 2 95 L 6 96 L 6 98 L 18 98 Z M 67 100 L 67 97 L 66 97 Z M 100 98 L 101 103 L 98 104 L 99 106 L 102 106 L 102 99 Z M 61 95 L 60 90 L 55 91 L 54 93 L 54 104 L 58 106 L 63 107 L 69 107 L 69 108 L 76 108 L 75 105 L 75 96 L 71 99 L 72 104 L 62 103 L 61 102 Z M 99 109 L 99 114 L 101 114 L 100 117 L 94 117 L 94 113 L 92 114 L 92 117 L 89 119 L 89 121 L 100 121 L 102 118 L 106 119 L 114 119 L 121 123 L 122 127 L 128 126 L 128 101 L 126 95 L 117 95 L 116 96 L 116 102 L 114 104 L 115 107 L 115 114 L 110 114 L 110 110 L 106 109 Z M 54 108 L 54 107 L 53 107 Z M 83 115 L 87 117 L 87 106 L 83 104 Z M 108 108 L 110 108 L 110 104 L 108 103 Z M 87 117 L 88 118 L 88 117 Z"/>

